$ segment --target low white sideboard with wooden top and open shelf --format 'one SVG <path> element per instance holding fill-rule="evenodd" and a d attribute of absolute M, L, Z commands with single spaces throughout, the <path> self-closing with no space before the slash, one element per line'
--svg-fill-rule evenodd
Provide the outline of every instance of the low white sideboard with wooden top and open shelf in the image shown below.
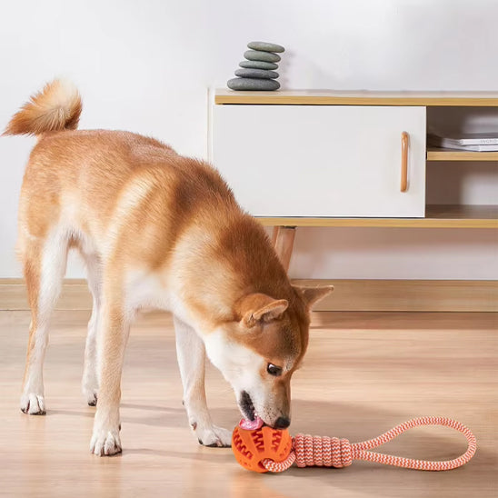
<path fill-rule="evenodd" d="M 498 228 L 496 204 L 425 202 L 426 162 L 498 164 L 426 147 L 427 108 L 447 106 L 496 108 L 498 94 L 217 90 L 211 159 L 266 225 Z"/>

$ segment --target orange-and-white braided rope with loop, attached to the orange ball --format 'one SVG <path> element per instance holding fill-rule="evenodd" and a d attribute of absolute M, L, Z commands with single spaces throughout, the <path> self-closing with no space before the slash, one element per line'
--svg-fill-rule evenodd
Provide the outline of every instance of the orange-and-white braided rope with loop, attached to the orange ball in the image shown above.
<path fill-rule="evenodd" d="M 421 425 L 443 425 L 444 427 L 451 427 L 455 431 L 463 433 L 468 443 L 467 451 L 458 458 L 442 462 L 414 460 L 412 458 L 403 458 L 402 456 L 368 451 L 391 441 L 413 427 Z M 351 465 L 354 460 L 366 460 L 368 462 L 383 463 L 384 465 L 394 465 L 396 467 L 421 471 L 448 471 L 467 463 L 473 457 L 476 447 L 475 436 L 463 423 L 445 417 L 420 417 L 400 423 L 390 431 L 361 443 L 351 444 L 347 439 L 338 439 L 336 437 L 297 434 L 293 439 L 294 451 L 283 462 L 276 463 L 266 458 L 262 463 L 266 470 L 274 473 L 287 470 L 294 462 L 298 467 L 340 468 Z"/>

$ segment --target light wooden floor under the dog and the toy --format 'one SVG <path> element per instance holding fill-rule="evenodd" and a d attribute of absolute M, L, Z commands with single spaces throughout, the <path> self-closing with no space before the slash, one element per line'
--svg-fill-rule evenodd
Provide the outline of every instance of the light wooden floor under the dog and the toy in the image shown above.
<path fill-rule="evenodd" d="M 80 377 L 86 311 L 55 312 L 45 364 L 45 416 L 18 408 L 29 315 L 0 312 L 0 494 L 5 496 L 216 496 L 273 498 L 495 497 L 498 495 L 498 323 L 496 314 L 314 314 L 309 352 L 294 376 L 291 433 L 352 443 L 413 416 L 468 425 L 471 463 L 424 473 L 356 462 L 346 469 L 279 475 L 240 468 L 230 449 L 204 448 L 189 432 L 175 363 L 172 320 L 144 314 L 132 330 L 123 381 L 124 453 L 89 453 L 94 408 Z M 209 368 L 215 423 L 233 427 L 234 394 Z M 383 451 L 424 459 L 465 449 L 448 429 L 419 428 Z"/>

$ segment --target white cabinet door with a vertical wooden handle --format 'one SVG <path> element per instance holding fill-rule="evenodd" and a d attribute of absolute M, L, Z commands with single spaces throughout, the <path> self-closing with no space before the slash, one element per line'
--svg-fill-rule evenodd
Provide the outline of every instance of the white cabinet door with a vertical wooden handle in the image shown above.
<path fill-rule="evenodd" d="M 425 107 L 214 105 L 213 119 L 214 166 L 254 216 L 424 215 Z"/>

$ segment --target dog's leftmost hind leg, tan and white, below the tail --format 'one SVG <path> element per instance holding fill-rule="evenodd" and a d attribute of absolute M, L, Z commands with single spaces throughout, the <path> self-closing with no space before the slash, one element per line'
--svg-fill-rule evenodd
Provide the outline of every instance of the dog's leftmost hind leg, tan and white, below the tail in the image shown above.
<path fill-rule="evenodd" d="M 60 294 L 67 261 L 68 237 L 51 234 L 41 240 L 26 235 L 22 257 L 31 307 L 21 410 L 45 414 L 43 364 L 50 316 Z"/>

